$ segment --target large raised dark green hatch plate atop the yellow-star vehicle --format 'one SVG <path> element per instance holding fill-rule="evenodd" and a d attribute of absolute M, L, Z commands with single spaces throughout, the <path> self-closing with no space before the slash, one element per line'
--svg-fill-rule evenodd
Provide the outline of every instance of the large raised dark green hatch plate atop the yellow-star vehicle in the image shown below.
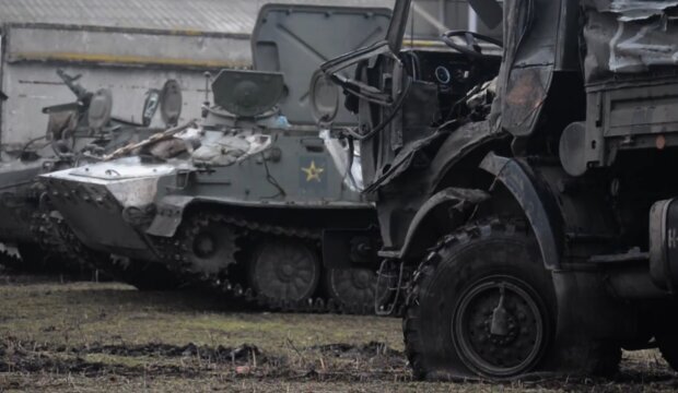
<path fill-rule="evenodd" d="M 279 107 L 290 123 L 315 124 L 308 94 L 315 71 L 327 60 L 383 40 L 390 14 L 385 8 L 267 4 L 261 9 L 252 39 L 254 68 L 283 74 Z M 337 103 L 335 124 L 356 123 L 339 104 L 342 100 L 331 93 L 324 97 L 323 107 Z"/>

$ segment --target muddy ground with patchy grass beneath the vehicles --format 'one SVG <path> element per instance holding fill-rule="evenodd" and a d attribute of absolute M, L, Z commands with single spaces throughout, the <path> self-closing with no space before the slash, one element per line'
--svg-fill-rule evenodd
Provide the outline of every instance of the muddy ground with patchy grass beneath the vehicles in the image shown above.
<path fill-rule="evenodd" d="M 0 273 L 0 391 L 654 392 L 678 389 L 655 350 L 613 380 L 411 381 L 400 321 L 246 312 L 223 299 Z"/>

